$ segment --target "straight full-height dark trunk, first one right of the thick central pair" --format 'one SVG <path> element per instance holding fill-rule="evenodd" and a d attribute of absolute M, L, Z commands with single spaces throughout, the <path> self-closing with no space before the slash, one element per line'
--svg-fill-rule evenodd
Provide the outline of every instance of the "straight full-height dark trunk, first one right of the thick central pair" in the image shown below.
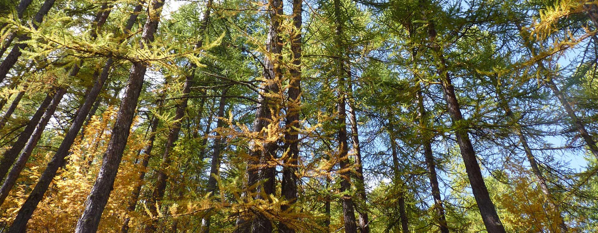
<path fill-rule="evenodd" d="M 336 26 L 335 32 L 335 44 L 338 46 L 339 50 L 343 48 L 341 43 L 341 36 L 343 36 L 343 24 L 341 22 L 341 15 L 340 15 L 340 0 L 334 0 L 334 23 Z M 349 147 L 347 146 L 347 111 L 346 111 L 346 83 L 345 83 L 345 74 L 344 72 L 344 61 L 343 61 L 343 52 L 339 52 L 337 55 L 336 61 L 336 74 L 338 79 L 338 163 L 340 165 L 340 191 L 343 193 L 341 197 L 341 205 L 343 206 L 343 220 L 344 220 L 344 231 L 346 233 L 356 233 L 357 226 L 355 220 L 355 210 L 353 209 L 353 198 L 351 197 L 350 190 L 351 190 L 351 181 L 350 181 L 350 164 L 349 164 L 349 157 L 348 151 Z"/>

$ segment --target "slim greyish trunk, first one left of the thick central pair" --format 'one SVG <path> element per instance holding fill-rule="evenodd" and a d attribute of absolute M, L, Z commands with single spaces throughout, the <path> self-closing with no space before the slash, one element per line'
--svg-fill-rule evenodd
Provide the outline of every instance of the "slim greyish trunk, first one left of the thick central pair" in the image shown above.
<path fill-rule="evenodd" d="M 216 123 L 216 128 L 224 127 L 224 107 L 226 107 L 226 93 L 227 89 L 222 91 L 222 96 L 220 97 L 220 104 L 218 105 L 218 123 Z M 216 192 L 216 178 L 219 177 L 220 173 L 220 150 L 222 147 L 222 135 L 216 130 L 216 135 L 214 138 L 214 150 L 212 151 L 212 163 L 210 164 L 210 178 L 208 179 L 208 197 L 212 197 Z M 211 213 L 206 213 L 206 216 L 202 219 L 202 229 L 200 232 L 208 233 L 210 231 L 210 220 L 211 220 Z"/>

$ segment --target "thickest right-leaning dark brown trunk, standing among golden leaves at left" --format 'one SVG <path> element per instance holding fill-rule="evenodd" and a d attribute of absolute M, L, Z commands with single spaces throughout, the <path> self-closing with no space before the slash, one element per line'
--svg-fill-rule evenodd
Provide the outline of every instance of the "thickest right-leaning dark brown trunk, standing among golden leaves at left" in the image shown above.
<path fill-rule="evenodd" d="M 149 8 L 148 20 L 144 26 L 144 32 L 140 41 L 141 48 L 149 46 L 149 43 L 154 41 L 154 33 L 157 30 L 158 22 L 163 0 L 151 1 Z M 145 72 L 148 63 L 145 61 L 136 61 L 133 63 L 131 74 L 129 76 L 129 84 L 124 93 L 123 101 L 118 110 L 114 128 L 112 128 L 112 135 L 108 142 L 108 149 L 104 154 L 102 167 L 100 167 L 96 182 L 91 188 L 91 192 L 87 197 L 86 207 L 83 215 L 77 221 L 75 232 L 77 233 L 93 233 L 97 231 L 97 226 L 102 217 L 102 212 L 112 187 L 114 179 L 118 172 L 118 166 L 123 158 L 123 151 L 126 146 L 127 138 L 129 137 L 129 130 L 133 117 L 135 116 L 135 109 L 137 107 L 139 94 L 141 93 Z"/>

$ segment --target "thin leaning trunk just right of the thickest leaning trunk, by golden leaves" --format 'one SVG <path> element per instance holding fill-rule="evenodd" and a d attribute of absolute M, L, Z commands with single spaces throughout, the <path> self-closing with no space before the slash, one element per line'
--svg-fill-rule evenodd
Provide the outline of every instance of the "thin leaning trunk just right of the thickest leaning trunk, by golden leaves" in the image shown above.
<path fill-rule="evenodd" d="M 159 104 L 158 107 L 160 107 Z M 154 148 L 155 133 L 158 129 L 158 123 L 160 123 L 160 119 L 157 116 L 154 116 L 154 119 L 151 123 L 151 134 L 148 138 L 148 146 L 145 148 L 144 157 L 141 160 L 141 170 L 139 171 L 139 178 L 137 184 L 135 184 L 135 188 L 133 188 L 133 191 L 131 191 L 131 198 L 127 206 L 128 212 L 135 211 L 135 207 L 137 207 L 137 202 L 139 201 L 139 194 L 141 194 L 141 187 L 144 184 L 145 173 L 149 163 L 149 157 L 151 156 L 152 148 Z M 130 220 L 131 218 L 129 216 L 127 216 L 127 218 L 124 219 L 123 226 L 121 226 L 120 228 L 121 233 L 129 232 Z"/>

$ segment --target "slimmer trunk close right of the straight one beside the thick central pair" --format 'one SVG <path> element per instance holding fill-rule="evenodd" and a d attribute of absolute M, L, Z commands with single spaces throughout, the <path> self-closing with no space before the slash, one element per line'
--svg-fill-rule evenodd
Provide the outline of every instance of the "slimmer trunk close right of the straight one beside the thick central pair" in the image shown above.
<path fill-rule="evenodd" d="M 350 69 L 350 68 L 349 68 Z M 357 128 L 357 115 L 355 114 L 355 98 L 353 98 L 353 85 L 351 80 L 351 72 L 347 72 L 349 76 L 348 92 L 351 95 L 349 102 L 349 123 L 351 125 L 351 141 L 353 150 L 355 150 L 355 167 L 356 167 L 356 181 L 355 186 L 359 195 L 359 205 L 357 206 L 358 213 L 358 228 L 361 233 L 370 232 L 370 220 L 368 219 L 367 196 L 365 194 L 364 181 L 364 167 L 362 166 L 361 147 L 359 147 L 359 131 Z"/>

